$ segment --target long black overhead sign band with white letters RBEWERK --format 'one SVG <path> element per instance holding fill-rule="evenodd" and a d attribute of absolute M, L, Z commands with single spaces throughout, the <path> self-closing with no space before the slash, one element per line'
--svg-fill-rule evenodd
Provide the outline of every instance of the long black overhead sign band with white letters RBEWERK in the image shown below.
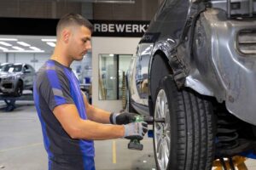
<path fill-rule="evenodd" d="M 149 21 L 90 20 L 93 37 L 143 37 Z M 57 19 L 1 18 L 1 35 L 55 36 Z M 19 29 L 17 29 L 19 28 Z"/>

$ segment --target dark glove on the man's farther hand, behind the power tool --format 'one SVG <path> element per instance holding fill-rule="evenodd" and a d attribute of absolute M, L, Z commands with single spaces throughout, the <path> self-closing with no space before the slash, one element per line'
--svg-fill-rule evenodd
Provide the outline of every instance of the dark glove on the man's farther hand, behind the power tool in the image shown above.
<path fill-rule="evenodd" d="M 123 125 L 123 124 L 128 124 L 130 122 L 134 122 L 136 117 L 136 114 L 134 113 L 128 113 L 128 112 L 123 112 L 123 113 L 111 113 L 109 117 L 109 121 L 112 124 L 118 124 L 118 125 Z"/>

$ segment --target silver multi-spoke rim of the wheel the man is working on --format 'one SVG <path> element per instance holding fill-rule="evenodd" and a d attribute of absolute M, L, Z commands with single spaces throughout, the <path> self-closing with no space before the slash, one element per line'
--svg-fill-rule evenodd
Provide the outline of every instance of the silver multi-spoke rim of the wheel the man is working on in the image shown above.
<path fill-rule="evenodd" d="M 166 92 L 161 89 L 155 101 L 154 118 L 165 118 L 165 122 L 154 122 L 154 148 L 160 170 L 166 170 L 171 145 L 170 113 Z"/>

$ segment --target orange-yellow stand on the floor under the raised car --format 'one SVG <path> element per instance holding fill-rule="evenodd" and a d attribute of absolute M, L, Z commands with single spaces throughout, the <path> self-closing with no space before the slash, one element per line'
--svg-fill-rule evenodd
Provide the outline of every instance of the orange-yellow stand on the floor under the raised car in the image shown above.
<path fill-rule="evenodd" d="M 218 160 L 213 161 L 212 167 L 214 170 L 247 170 L 245 161 L 246 157 L 242 156 L 233 156 L 224 160 L 224 158 L 219 158 Z"/>

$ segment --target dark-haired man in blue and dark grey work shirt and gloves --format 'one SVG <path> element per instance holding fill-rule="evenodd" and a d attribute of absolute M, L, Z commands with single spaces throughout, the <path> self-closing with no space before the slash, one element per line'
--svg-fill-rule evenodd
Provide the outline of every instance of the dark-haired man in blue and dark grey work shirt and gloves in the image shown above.
<path fill-rule="evenodd" d="M 93 170 L 93 140 L 143 139 L 148 130 L 147 123 L 131 122 L 132 114 L 110 113 L 90 105 L 80 91 L 70 65 L 90 50 L 92 28 L 79 14 L 63 16 L 56 29 L 54 53 L 34 82 L 50 170 Z"/>

